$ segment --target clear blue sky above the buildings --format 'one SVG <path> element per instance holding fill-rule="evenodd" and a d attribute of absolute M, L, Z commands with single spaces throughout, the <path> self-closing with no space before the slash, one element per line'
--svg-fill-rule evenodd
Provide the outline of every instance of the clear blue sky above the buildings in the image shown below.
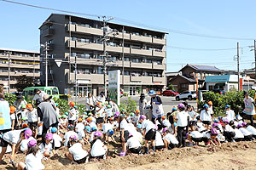
<path fill-rule="evenodd" d="M 17 1 L 18 0 L 14 0 Z M 256 38 L 256 1 L 253 0 L 19 0 L 49 8 L 59 8 L 85 14 L 119 17 L 158 26 L 166 30 L 195 32 L 222 37 Z M 28 50 L 39 49 L 38 27 L 55 11 L 24 7 L 0 1 L 0 47 Z M 90 17 L 89 17 L 90 18 Z M 92 18 L 95 19 L 95 18 Z M 131 23 L 120 24 L 131 25 Z M 252 68 L 253 51 L 247 46 L 253 40 L 226 40 L 192 37 L 169 32 L 167 36 L 167 71 L 178 71 L 187 63 L 216 65 L 220 69 L 236 70 L 236 49 L 188 50 L 183 48 L 236 48 L 240 42 L 241 69 Z M 172 48 L 170 46 L 181 47 Z"/>

